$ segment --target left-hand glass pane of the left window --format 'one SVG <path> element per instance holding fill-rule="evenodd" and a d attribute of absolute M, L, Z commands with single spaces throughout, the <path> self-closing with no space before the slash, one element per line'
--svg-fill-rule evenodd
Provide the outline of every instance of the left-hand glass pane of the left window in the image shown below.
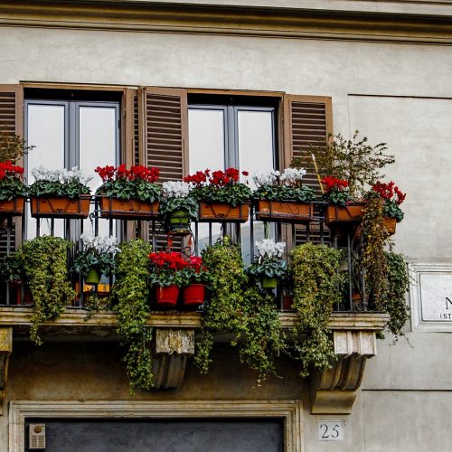
<path fill-rule="evenodd" d="M 35 146 L 27 157 L 27 181 L 33 184 L 33 168 L 64 168 L 65 105 L 34 105 L 27 109 L 27 141 Z M 41 220 L 41 235 L 50 234 L 51 220 Z M 54 221 L 54 235 L 63 236 L 64 221 Z M 36 220 L 27 213 L 27 239 L 36 236 Z"/>

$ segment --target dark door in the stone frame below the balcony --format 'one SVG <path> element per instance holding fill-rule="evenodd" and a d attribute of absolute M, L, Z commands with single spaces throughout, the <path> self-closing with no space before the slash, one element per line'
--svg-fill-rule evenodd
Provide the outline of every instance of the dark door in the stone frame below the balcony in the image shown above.
<path fill-rule="evenodd" d="M 284 449 L 283 423 L 278 419 L 31 421 L 45 424 L 45 452 L 282 452 Z M 28 447 L 28 435 L 25 444 Z"/>

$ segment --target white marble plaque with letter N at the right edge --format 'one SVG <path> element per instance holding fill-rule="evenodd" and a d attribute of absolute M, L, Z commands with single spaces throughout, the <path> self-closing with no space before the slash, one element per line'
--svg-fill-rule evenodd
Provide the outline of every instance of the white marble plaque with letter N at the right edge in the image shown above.
<path fill-rule="evenodd" d="M 415 329 L 452 331 L 452 266 L 413 266 L 412 319 Z"/>

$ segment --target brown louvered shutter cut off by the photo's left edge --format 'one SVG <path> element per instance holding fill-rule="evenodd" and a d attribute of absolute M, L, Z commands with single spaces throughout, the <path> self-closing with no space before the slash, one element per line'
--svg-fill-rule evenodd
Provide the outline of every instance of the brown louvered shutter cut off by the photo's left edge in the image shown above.
<path fill-rule="evenodd" d="M 21 85 L 0 85 L 0 128 L 8 135 L 22 137 L 24 131 L 24 89 Z M 10 250 L 21 241 L 21 221 L 14 219 Z M 17 231 L 17 233 L 16 233 Z M 6 234 L 0 235 L 0 258 L 7 252 Z"/>

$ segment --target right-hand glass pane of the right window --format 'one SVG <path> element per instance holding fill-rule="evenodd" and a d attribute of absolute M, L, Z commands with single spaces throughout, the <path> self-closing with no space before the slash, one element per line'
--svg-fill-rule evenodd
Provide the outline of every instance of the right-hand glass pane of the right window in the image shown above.
<path fill-rule="evenodd" d="M 239 110 L 237 112 L 239 162 L 240 172 L 248 171 L 245 177 L 240 174 L 241 182 L 245 180 L 254 190 L 256 185 L 252 181 L 255 173 L 266 173 L 274 168 L 274 127 L 272 111 Z M 264 231 L 262 221 L 254 221 L 254 241 L 275 237 L 275 227 L 268 223 L 267 232 Z M 250 221 L 241 226 L 241 249 L 245 262 L 250 262 Z"/>

